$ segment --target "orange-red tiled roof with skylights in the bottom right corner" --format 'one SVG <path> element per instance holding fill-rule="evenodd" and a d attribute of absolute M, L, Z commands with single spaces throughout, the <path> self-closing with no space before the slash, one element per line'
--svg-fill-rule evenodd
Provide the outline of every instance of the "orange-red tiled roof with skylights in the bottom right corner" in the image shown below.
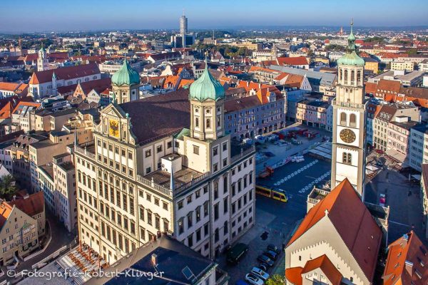
<path fill-rule="evenodd" d="M 413 231 L 389 244 L 383 284 L 427 285 L 427 252 Z"/>

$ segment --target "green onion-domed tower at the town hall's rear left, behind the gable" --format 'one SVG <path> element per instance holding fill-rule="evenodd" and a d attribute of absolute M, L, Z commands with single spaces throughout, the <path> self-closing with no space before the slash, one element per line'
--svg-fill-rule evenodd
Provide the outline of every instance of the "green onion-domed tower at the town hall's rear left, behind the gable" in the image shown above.
<path fill-rule="evenodd" d="M 129 65 L 126 58 L 121 69 L 111 77 L 111 86 L 117 103 L 127 103 L 140 98 L 140 75 Z M 111 96 L 113 97 L 113 96 Z"/>

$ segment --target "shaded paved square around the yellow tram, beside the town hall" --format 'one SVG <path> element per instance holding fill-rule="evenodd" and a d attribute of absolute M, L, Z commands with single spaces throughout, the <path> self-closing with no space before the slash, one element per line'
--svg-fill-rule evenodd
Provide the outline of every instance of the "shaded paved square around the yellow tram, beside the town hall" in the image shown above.
<path fill-rule="evenodd" d="M 315 142 L 321 141 L 322 138 L 312 140 L 300 138 L 300 140 L 302 144 L 293 145 L 290 150 L 270 143 L 265 144 L 266 148 L 261 151 L 270 151 L 275 156 L 256 165 L 256 172 L 257 169 L 259 172 L 263 170 L 265 163 L 272 165 L 284 157 L 302 152 Z M 227 264 L 225 254 L 217 260 L 220 267 L 230 275 L 229 284 L 235 284 L 239 279 L 244 279 L 245 274 L 259 264 L 257 257 L 263 254 L 268 244 L 275 244 L 281 249 L 282 244 L 287 243 L 297 222 L 305 217 L 306 199 L 312 187 L 330 181 L 330 162 L 317 160 L 309 155 L 304 155 L 304 158 L 302 162 L 289 162 L 275 169 L 270 177 L 256 180 L 258 184 L 285 190 L 289 200 L 279 202 L 260 195 L 256 196 L 255 226 L 238 241 L 248 244 L 250 248 L 248 253 L 236 265 Z M 284 274 L 284 266 L 284 254 L 281 253 L 268 273 L 272 274 L 275 271 Z"/>

